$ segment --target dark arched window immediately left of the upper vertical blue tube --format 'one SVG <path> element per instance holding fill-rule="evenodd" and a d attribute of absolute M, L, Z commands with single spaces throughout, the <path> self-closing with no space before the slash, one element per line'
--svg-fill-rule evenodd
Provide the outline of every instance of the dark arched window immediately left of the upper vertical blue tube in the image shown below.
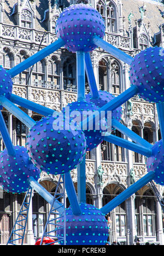
<path fill-rule="evenodd" d="M 75 86 L 75 62 L 72 59 L 67 59 L 63 64 L 63 86 L 65 90 L 77 88 Z"/>

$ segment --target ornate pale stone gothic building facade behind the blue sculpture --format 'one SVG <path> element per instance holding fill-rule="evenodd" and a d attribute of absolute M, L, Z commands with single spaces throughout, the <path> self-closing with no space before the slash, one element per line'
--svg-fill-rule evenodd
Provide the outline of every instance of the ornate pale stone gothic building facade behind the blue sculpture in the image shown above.
<path fill-rule="evenodd" d="M 88 3 L 101 13 L 105 24 L 104 39 L 125 53 L 135 56 L 140 50 L 164 47 L 164 5 L 161 0 L 0 0 L 0 65 L 5 69 L 19 64 L 54 42 L 55 24 L 63 8 Z M 129 86 L 129 66 L 101 48 L 91 53 L 97 86 L 115 96 Z M 65 48 L 57 50 L 13 79 L 13 93 L 35 103 L 60 111 L 77 100 L 76 58 Z M 86 93 L 89 92 L 86 77 Z M 22 109 L 35 121 L 42 116 Z M 122 105 L 122 124 L 149 143 L 161 139 L 156 106 L 138 96 Z M 7 110 L 2 111 L 14 145 L 25 146 L 27 127 Z M 124 136 L 114 130 L 115 136 Z M 0 138 L 1 150 L 4 149 Z M 103 141 L 86 152 L 86 202 L 101 208 L 134 181 L 147 173 L 147 159 L 122 147 Z M 102 180 L 97 170 L 102 170 Z M 77 169 L 71 172 L 77 189 Z M 54 193 L 58 177 L 42 173 L 39 183 Z M 156 185 L 163 196 L 164 189 Z M 59 192 L 62 192 L 59 187 Z M 25 195 L 0 193 L 0 244 L 8 241 Z M 67 206 L 69 201 L 66 200 Z M 27 220 L 26 244 L 42 237 L 50 205 L 33 192 Z M 121 203 L 108 214 L 112 220 L 110 241 L 134 244 L 137 239 L 164 244 L 163 212 L 151 184 Z M 51 229 L 51 226 L 48 227 Z"/>

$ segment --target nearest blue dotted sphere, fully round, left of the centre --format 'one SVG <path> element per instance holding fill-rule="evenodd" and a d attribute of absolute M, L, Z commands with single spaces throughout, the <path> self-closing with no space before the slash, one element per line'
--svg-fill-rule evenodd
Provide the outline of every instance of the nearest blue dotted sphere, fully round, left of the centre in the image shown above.
<path fill-rule="evenodd" d="M 50 174 L 63 174 L 83 160 L 86 139 L 81 130 L 65 127 L 66 118 L 44 117 L 27 135 L 27 152 L 34 166 Z M 69 121 L 67 122 L 69 126 Z"/>

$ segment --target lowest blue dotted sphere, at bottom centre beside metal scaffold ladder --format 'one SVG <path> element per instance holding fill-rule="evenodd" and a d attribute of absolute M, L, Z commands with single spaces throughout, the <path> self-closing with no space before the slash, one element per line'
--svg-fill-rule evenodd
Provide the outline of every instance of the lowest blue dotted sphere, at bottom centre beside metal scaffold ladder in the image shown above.
<path fill-rule="evenodd" d="M 66 209 L 66 245 L 106 244 L 108 225 L 104 214 L 91 204 L 80 203 L 80 208 L 81 215 L 74 215 L 71 207 Z M 63 219 L 58 224 L 63 225 Z M 63 230 L 57 230 L 56 235 L 63 236 Z"/>

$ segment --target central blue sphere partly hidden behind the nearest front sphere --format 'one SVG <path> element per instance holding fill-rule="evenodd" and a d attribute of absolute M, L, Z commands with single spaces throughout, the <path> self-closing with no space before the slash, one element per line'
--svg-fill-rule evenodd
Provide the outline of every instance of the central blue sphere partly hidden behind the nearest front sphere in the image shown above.
<path fill-rule="evenodd" d="M 86 101 L 75 101 L 69 103 L 63 108 L 62 112 L 71 118 L 72 125 L 77 124 L 77 129 L 83 129 L 86 138 L 86 150 L 90 151 L 97 147 L 103 141 L 103 132 L 106 132 L 106 120 L 100 120 L 100 115 L 94 118 L 94 112 L 98 111 L 98 107 L 93 103 Z M 84 121 L 87 117 L 93 115 L 93 120 L 86 126 L 80 127 L 80 122 Z M 75 122 L 75 121 L 78 122 Z M 98 121 L 97 121 L 98 120 Z"/>

